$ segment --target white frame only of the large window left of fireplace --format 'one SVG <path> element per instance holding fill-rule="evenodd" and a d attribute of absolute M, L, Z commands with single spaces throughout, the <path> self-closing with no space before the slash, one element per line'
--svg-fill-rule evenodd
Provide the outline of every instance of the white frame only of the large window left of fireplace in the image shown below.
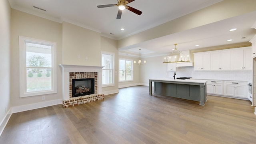
<path fill-rule="evenodd" d="M 43 44 L 52 46 L 51 48 L 51 56 L 52 56 L 52 64 L 51 64 L 51 90 L 41 90 L 36 92 L 27 92 L 27 79 L 26 79 L 26 42 L 31 42 L 35 44 Z M 28 96 L 39 96 L 45 94 L 55 94 L 57 93 L 57 43 L 49 42 L 45 40 L 38 40 L 34 38 L 27 38 L 24 36 L 19 36 L 19 74 L 20 74 L 20 98 L 28 97 Z"/>

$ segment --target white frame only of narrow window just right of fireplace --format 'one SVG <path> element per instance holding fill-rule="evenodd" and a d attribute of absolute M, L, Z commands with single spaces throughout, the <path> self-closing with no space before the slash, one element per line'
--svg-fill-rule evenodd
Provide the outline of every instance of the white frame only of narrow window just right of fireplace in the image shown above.
<path fill-rule="evenodd" d="M 104 69 L 102 68 L 102 74 L 103 74 L 103 70 L 112 70 L 112 84 L 103 84 L 103 76 L 102 76 L 102 87 L 107 87 L 107 86 L 115 86 L 115 78 L 114 78 L 114 70 L 115 70 L 115 53 L 113 52 L 104 52 L 101 51 L 101 56 L 100 56 L 100 65 L 102 66 L 102 55 L 111 55 L 112 56 L 112 69 Z"/>

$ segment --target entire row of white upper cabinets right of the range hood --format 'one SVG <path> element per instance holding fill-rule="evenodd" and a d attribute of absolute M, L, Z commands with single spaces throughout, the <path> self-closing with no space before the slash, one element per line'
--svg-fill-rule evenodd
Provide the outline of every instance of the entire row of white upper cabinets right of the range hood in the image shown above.
<path fill-rule="evenodd" d="M 252 70 L 251 46 L 194 53 L 194 70 Z"/>

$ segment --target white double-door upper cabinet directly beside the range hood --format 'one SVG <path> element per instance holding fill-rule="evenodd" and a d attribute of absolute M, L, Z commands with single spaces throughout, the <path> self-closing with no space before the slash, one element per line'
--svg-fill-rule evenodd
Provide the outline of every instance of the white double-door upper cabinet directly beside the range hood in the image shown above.
<path fill-rule="evenodd" d="M 210 70 L 211 54 L 194 53 L 194 70 Z"/>

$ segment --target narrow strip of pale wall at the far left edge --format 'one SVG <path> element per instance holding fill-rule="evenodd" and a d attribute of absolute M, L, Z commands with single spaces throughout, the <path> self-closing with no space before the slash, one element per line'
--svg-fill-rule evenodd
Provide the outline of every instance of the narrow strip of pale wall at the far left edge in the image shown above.
<path fill-rule="evenodd" d="M 11 9 L 7 0 L 0 0 L 0 125 L 10 109 L 10 29 Z M 1 127 L 1 126 L 0 126 Z M 2 128 L 1 128 L 2 129 Z"/>

